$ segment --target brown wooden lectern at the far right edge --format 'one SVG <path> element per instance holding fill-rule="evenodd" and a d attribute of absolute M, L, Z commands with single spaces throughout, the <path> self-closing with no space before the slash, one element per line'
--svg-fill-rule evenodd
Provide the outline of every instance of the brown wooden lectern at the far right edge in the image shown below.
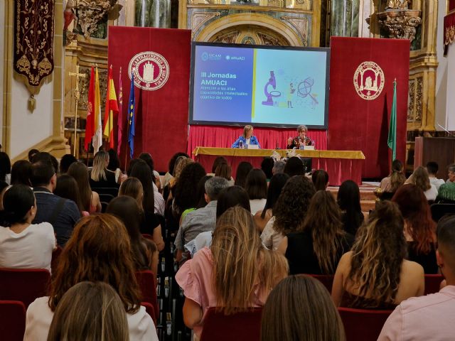
<path fill-rule="evenodd" d="M 447 166 L 455 162 L 455 138 L 416 137 L 414 169 L 434 161 L 439 165 L 438 178 L 447 179 Z"/>

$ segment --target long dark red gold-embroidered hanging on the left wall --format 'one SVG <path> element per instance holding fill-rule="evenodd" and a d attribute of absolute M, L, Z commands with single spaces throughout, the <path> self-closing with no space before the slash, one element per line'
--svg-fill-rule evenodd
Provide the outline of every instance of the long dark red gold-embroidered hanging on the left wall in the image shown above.
<path fill-rule="evenodd" d="M 16 0 L 14 16 L 14 70 L 23 76 L 28 90 L 37 94 L 54 69 L 54 2 Z"/>

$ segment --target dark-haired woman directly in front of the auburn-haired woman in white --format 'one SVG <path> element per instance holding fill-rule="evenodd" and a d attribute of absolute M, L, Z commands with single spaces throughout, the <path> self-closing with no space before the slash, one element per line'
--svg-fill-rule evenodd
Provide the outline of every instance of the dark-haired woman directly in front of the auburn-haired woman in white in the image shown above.
<path fill-rule="evenodd" d="M 154 242 L 141 235 L 139 226 L 142 212 L 137 201 L 127 195 L 115 197 L 107 205 L 106 213 L 119 218 L 127 227 L 134 269 L 137 271 L 151 270 L 156 275 L 158 273 L 158 249 Z"/>

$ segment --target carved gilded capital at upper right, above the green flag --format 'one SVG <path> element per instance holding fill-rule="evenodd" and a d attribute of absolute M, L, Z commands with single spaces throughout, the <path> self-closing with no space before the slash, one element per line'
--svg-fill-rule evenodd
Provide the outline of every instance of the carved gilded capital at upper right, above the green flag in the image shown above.
<path fill-rule="evenodd" d="M 416 28 L 422 24 L 420 18 L 422 11 L 392 9 L 378 13 L 378 22 L 389 34 L 389 38 L 409 39 L 415 38 Z"/>

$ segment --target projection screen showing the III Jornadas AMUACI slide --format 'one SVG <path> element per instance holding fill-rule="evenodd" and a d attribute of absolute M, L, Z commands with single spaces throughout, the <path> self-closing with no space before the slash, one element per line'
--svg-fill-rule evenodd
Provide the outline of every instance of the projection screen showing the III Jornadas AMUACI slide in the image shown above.
<path fill-rule="evenodd" d="M 194 43 L 190 123 L 327 128 L 326 48 Z"/>

